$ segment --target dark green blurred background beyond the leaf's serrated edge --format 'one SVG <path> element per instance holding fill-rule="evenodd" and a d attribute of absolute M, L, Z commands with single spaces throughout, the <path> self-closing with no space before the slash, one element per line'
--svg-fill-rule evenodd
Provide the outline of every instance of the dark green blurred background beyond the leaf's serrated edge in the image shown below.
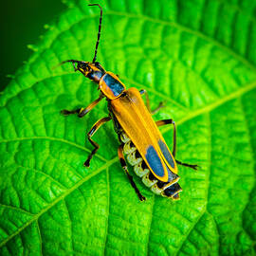
<path fill-rule="evenodd" d="M 60 1 L 12 0 L 0 2 L 0 91 L 32 54 L 27 45 L 37 45 L 39 36 L 46 32 L 45 24 L 51 23 L 65 9 Z"/>

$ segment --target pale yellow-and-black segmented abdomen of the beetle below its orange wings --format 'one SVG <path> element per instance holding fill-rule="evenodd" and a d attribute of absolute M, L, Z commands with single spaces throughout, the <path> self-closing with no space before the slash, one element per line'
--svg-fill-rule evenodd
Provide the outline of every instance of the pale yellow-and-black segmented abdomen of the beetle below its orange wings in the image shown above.
<path fill-rule="evenodd" d="M 179 192 L 182 191 L 177 183 L 179 176 L 170 171 L 171 180 L 168 182 L 158 180 L 149 170 L 133 141 L 123 132 L 119 135 L 119 139 L 123 143 L 123 153 L 126 155 L 127 161 L 134 167 L 134 172 L 141 177 L 145 186 L 149 187 L 155 194 L 170 197 L 174 200 L 179 199 Z"/>

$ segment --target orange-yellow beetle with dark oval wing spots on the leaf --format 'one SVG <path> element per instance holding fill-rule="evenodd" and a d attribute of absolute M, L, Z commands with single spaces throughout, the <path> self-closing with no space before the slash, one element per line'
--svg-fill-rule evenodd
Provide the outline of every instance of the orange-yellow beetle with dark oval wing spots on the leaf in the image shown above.
<path fill-rule="evenodd" d="M 126 155 L 126 159 L 130 165 L 134 167 L 135 173 L 141 177 L 142 182 L 152 192 L 177 200 L 179 199 L 179 192 L 182 191 L 178 184 L 177 164 L 190 167 L 194 170 L 198 166 L 182 163 L 175 159 L 175 122 L 173 119 L 154 121 L 147 91 L 139 91 L 137 88 L 126 89 L 125 84 L 119 80 L 119 76 L 106 71 L 99 62 L 96 62 L 97 50 L 101 38 L 102 8 L 99 4 L 89 6 L 98 6 L 101 9 L 100 25 L 93 61 L 67 60 L 61 63 L 73 64 L 75 71 L 80 71 L 86 78 L 98 84 L 98 89 L 100 89 L 100 96 L 97 100 L 91 102 L 85 108 L 72 111 L 64 109 L 61 111 L 64 116 L 78 114 L 78 117 L 82 118 L 103 98 L 107 101 L 109 115 L 99 119 L 87 134 L 88 140 L 94 149 L 88 155 L 84 166 L 89 167 L 90 160 L 100 148 L 100 145 L 92 137 L 102 124 L 113 120 L 114 128 L 120 142 L 118 149 L 120 165 L 129 178 L 135 192 L 137 192 L 139 200 L 144 201 L 146 198 L 139 192 L 133 176 L 129 174 L 124 155 Z M 146 97 L 146 104 L 141 98 L 143 94 Z M 158 109 L 161 106 L 160 103 Z M 159 126 L 167 124 L 174 126 L 174 147 L 172 153 L 158 130 Z"/>

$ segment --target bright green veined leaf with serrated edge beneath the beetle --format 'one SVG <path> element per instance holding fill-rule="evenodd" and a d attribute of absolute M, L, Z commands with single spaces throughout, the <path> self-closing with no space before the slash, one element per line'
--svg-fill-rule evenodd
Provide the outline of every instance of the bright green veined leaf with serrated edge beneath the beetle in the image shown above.
<path fill-rule="evenodd" d="M 98 1 L 98 61 L 147 89 L 156 119 L 178 124 L 181 200 L 141 203 L 123 174 L 102 101 L 83 119 L 60 111 L 97 99 L 68 59 L 92 61 L 100 11 L 84 1 L 46 32 L 0 98 L 1 255 L 253 255 L 256 250 L 256 2 Z M 172 147 L 171 127 L 161 131 Z M 132 173 L 132 170 L 130 170 Z"/>

